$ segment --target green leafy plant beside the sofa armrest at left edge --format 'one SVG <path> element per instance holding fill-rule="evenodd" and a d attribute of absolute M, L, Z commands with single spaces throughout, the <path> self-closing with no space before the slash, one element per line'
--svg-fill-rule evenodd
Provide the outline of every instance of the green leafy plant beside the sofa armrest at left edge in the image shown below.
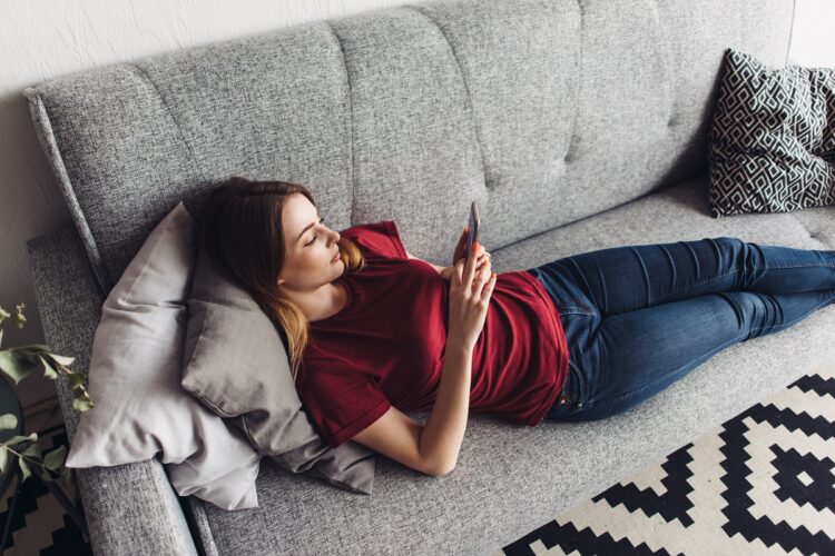
<path fill-rule="evenodd" d="M 0 306 L 0 348 L 2 348 L 2 326 L 4 321 L 10 319 L 17 328 L 23 328 L 26 322 L 26 317 L 23 316 L 24 308 L 24 304 L 18 304 L 14 312 L 10 314 Z M 37 370 L 42 370 L 43 376 L 52 380 L 58 378 L 59 375 L 66 375 L 72 389 L 72 408 L 78 413 L 84 413 L 92 407 L 92 401 L 85 387 L 85 377 L 68 368 L 73 360 L 73 357 L 53 354 L 48 346 L 42 344 L 0 349 L 0 370 L 11 378 L 16 385 Z M 2 378 L 0 380 L 8 385 L 7 380 Z M 14 394 L 14 401 L 18 404 L 14 409 L 17 413 L 20 413 L 17 394 Z M 21 429 L 18 416 L 13 413 L 7 413 L 9 409 L 9 407 L 0 407 L 0 434 L 4 433 L 2 436 L 13 434 L 10 433 L 12 430 L 20 431 Z M 66 456 L 66 446 L 59 446 L 43 454 L 37 433 L 28 436 L 20 436 L 18 434 L 0 441 L 0 474 L 7 477 L 11 473 L 18 473 L 20 475 L 18 484 L 33 475 L 40 478 L 43 485 L 61 504 L 65 512 L 73 519 L 85 538 L 88 539 L 89 536 L 85 519 L 65 492 L 56 485 L 57 481 L 65 490 L 75 490 L 76 484 L 72 469 L 63 467 Z M 16 465 L 17 469 L 14 468 Z M 3 483 L 6 484 L 6 488 L 8 488 L 10 477 L 8 481 Z M 4 494 L 4 492 L 0 493 L 0 495 Z M 10 509 L 11 512 L 13 512 L 13 505 Z M 3 533 L 1 546 L 6 546 L 7 535 L 8 526 Z"/>

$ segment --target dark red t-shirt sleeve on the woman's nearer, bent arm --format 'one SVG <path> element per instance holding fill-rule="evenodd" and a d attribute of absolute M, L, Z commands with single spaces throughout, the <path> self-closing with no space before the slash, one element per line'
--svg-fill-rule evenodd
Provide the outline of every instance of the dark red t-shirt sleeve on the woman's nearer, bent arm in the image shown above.
<path fill-rule="evenodd" d="M 332 448 L 351 439 L 391 407 L 374 377 L 344 366 L 307 367 L 297 389 L 307 415 Z"/>

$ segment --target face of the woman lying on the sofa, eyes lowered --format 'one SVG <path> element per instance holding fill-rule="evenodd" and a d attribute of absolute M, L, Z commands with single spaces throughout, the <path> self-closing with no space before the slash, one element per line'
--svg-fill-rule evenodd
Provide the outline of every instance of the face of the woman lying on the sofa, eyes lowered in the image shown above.
<path fill-rule="evenodd" d="M 283 210 L 285 256 L 278 285 L 315 290 L 342 276 L 345 264 L 338 257 L 340 234 L 322 224 L 318 209 L 304 195 L 293 193 Z"/>

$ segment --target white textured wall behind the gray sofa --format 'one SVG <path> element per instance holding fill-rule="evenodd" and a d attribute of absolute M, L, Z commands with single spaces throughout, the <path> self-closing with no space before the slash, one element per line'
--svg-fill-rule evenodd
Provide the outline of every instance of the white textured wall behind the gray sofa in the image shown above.
<path fill-rule="evenodd" d="M 0 305 L 27 305 L 27 327 L 6 326 L 3 346 L 43 342 L 26 241 L 71 224 L 41 153 L 24 87 L 72 71 L 406 3 L 404 0 L 2 0 L 0 1 Z M 416 2 L 409 2 L 416 3 Z M 826 22 L 832 0 L 797 0 L 789 59 L 835 67 Z M 73 354 L 61 354 L 73 356 Z M 18 386 L 23 406 L 55 396 L 53 383 Z"/>

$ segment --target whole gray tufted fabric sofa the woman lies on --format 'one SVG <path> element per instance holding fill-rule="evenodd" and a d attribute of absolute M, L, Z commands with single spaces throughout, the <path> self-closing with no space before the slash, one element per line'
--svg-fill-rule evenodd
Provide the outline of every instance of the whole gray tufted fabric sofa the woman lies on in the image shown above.
<path fill-rule="evenodd" d="M 835 249 L 835 207 L 708 211 L 723 51 L 783 67 L 793 17 L 785 0 L 430 2 L 27 89 L 73 219 L 28 244 L 47 341 L 85 369 L 106 294 L 154 225 L 235 173 L 310 185 L 334 229 L 394 219 L 410 252 L 436 264 L 475 198 L 498 271 L 716 236 Z M 157 459 L 81 469 L 94 548 L 492 553 L 828 359 L 834 327 L 835 308 L 821 309 L 605 420 L 530 428 L 471 414 L 452 474 L 379 456 L 372 496 L 265 459 L 261 506 L 224 512 L 178 497 Z"/>

